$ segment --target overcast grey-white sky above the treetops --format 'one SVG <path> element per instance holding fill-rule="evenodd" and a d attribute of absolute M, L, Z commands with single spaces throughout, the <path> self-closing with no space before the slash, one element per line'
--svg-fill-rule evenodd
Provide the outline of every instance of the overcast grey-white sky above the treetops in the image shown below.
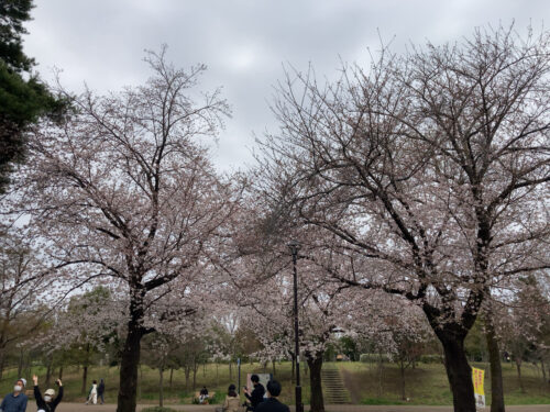
<path fill-rule="evenodd" d="M 46 79 L 74 91 L 138 85 L 144 49 L 168 45 L 177 66 L 208 65 L 202 87 L 223 86 L 233 118 L 215 147 L 221 170 L 252 163 L 253 133 L 276 131 L 268 108 L 283 64 L 334 76 L 340 59 L 366 62 L 380 35 L 394 51 L 460 40 L 475 26 L 550 22 L 548 0 L 35 0 L 25 51 Z"/>

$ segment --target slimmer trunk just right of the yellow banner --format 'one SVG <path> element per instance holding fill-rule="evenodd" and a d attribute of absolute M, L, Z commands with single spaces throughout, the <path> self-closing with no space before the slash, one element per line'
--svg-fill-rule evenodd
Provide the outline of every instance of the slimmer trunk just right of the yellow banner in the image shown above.
<path fill-rule="evenodd" d="M 501 364 L 501 350 L 492 316 L 493 313 L 487 310 L 483 318 L 491 365 L 491 412 L 504 412 L 503 366 Z"/>

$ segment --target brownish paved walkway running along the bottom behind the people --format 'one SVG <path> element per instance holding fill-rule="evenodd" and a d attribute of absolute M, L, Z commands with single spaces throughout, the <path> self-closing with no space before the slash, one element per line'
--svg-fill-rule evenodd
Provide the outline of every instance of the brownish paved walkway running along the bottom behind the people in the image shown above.
<path fill-rule="evenodd" d="M 138 411 L 141 411 L 143 408 L 151 405 L 139 405 Z M 167 405 L 176 411 L 185 411 L 185 412 L 213 412 L 216 405 Z M 328 412 L 452 412 L 452 407 L 371 407 L 371 405 L 326 405 L 324 407 Z M 290 407 L 290 410 L 294 411 L 294 408 Z M 308 407 L 306 407 L 308 410 Z M 35 412 L 36 403 L 29 402 L 26 408 L 26 412 Z M 62 402 L 57 408 L 56 412 L 116 412 L 117 405 L 114 404 L 105 404 L 105 405 L 85 405 L 82 403 L 64 403 Z M 486 408 L 486 412 L 490 412 L 491 409 Z M 525 405 L 525 407 L 506 407 L 507 412 L 549 412 L 550 405 Z"/>

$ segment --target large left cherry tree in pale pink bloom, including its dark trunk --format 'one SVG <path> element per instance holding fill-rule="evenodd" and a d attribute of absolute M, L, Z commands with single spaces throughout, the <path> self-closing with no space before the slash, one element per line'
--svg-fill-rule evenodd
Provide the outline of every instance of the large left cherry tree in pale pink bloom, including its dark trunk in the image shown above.
<path fill-rule="evenodd" d="M 145 62 L 153 76 L 144 86 L 87 90 L 66 125 L 36 129 L 15 187 L 19 210 L 47 241 L 59 290 L 98 281 L 125 297 L 118 412 L 135 411 L 140 343 L 154 330 L 147 305 L 177 294 L 184 316 L 200 303 L 182 286 L 206 278 L 205 256 L 234 201 L 199 141 L 229 114 L 220 90 L 195 91 L 206 67 L 177 69 L 165 48 Z"/>

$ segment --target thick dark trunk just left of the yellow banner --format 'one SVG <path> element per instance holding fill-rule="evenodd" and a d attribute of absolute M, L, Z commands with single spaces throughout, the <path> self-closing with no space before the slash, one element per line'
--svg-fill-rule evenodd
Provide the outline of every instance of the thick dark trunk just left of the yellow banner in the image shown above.
<path fill-rule="evenodd" d="M 439 330 L 438 337 L 443 345 L 447 377 L 452 392 L 454 412 L 475 412 L 472 368 L 468 364 L 462 334 Z"/>

